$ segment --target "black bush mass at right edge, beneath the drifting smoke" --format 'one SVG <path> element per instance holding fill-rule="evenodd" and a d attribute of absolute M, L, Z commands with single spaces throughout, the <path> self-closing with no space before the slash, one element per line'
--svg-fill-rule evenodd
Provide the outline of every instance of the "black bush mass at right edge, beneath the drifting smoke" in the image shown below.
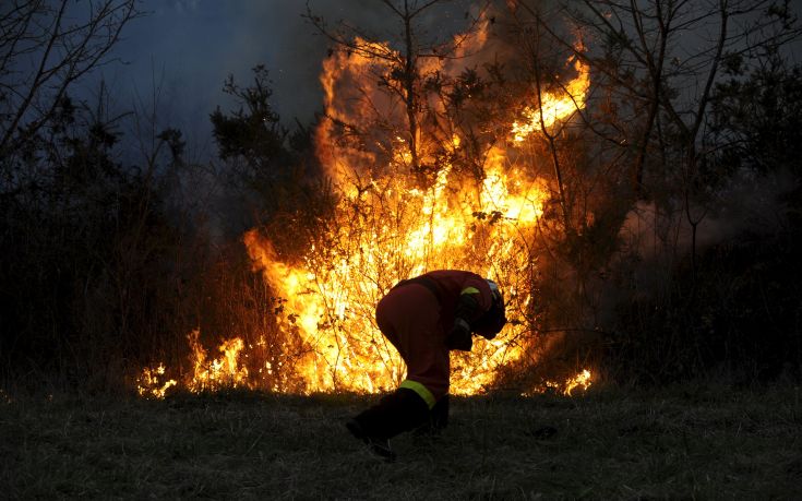
<path fill-rule="evenodd" d="M 802 377 L 802 251 L 790 235 L 740 235 L 672 274 L 665 295 L 617 311 L 605 370 L 610 379 L 663 385 L 715 372 L 737 381 Z"/>

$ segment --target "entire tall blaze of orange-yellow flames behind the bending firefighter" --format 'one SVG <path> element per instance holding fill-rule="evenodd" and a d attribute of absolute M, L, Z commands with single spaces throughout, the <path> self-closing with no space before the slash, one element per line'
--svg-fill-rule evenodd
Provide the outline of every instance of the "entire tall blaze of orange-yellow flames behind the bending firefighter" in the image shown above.
<path fill-rule="evenodd" d="M 336 41 L 324 61 L 325 117 L 315 131 L 318 158 L 337 195 L 333 214 L 315 223 L 298 254 L 276 244 L 298 230 L 291 226 L 284 236 L 266 228 L 244 236 L 254 266 L 280 297 L 282 334 L 273 346 L 282 356 L 249 361 L 255 370 L 244 375 L 237 363 L 228 370 L 215 359 L 195 367 L 189 387 L 210 381 L 210 367 L 219 371 L 211 380 L 274 391 L 395 387 L 405 369 L 375 325 L 375 303 L 400 279 L 448 267 L 498 282 L 511 319 L 495 339 L 478 339 L 471 354 L 453 357 L 453 393 L 486 390 L 504 369 L 541 356 L 539 241 L 549 230 L 546 211 L 563 195 L 532 165 L 548 157 L 523 155 L 519 146 L 532 134 L 552 142 L 563 134 L 584 106 L 587 68 L 577 58 L 561 61 L 553 70 L 567 85 L 520 85 L 511 99 L 503 67 L 486 63 L 499 50 L 487 9 L 467 32 L 424 45 L 415 21 L 438 2 L 385 3 L 404 26 L 399 44 L 328 32 L 310 14 Z M 236 359 L 265 338 L 227 343 Z M 276 363 L 292 365 L 292 377 L 273 377 Z M 583 372 L 565 384 L 588 383 Z"/>

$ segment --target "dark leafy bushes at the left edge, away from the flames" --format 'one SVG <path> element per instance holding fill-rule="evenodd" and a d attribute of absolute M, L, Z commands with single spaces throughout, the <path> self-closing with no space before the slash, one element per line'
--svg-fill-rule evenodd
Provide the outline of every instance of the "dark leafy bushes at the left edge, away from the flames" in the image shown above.
<path fill-rule="evenodd" d="M 91 384 L 105 385 L 124 360 L 164 348 L 183 234 L 166 213 L 167 178 L 117 163 L 120 135 L 105 118 L 63 97 L 52 133 L 4 162 L 15 174 L 0 199 L 0 354 L 12 373 L 95 373 Z"/>

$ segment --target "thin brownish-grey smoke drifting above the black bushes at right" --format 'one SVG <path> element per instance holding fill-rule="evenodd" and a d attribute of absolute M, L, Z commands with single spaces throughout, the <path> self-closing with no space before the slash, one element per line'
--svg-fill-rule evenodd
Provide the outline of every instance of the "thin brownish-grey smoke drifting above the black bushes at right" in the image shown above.
<path fill-rule="evenodd" d="M 717 246 L 754 244 L 755 238 L 777 234 L 788 223 L 782 199 L 795 186 L 795 178 L 787 170 L 742 172 L 715 199 L 691 208 L 698 220 L 695 242 L 681 201 L 677 200 L 673 208 L 638 203 L 621 227 L 619 250 L 600 274 L 597 287 L 603 294 L 599 294 L 597 305 L 598 322 L 614 323 L 622 305 L 669 295 L 678 269 L 689 266 L 692 254 L 701 261 Z"/>

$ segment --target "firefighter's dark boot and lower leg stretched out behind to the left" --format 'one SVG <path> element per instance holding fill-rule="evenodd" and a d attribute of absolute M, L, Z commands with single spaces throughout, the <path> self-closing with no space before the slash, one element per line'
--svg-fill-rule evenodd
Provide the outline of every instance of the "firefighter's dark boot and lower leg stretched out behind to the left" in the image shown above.
<path fill-rule="evenodd" d="M 374 454 L 393 461 L 395 453 L 390 449 L 390 439 L 420 427 L 427 419 L 429 406 L 423 398 L 412 390 L 399 387 L 346 422 L 346 428 Z"/>

